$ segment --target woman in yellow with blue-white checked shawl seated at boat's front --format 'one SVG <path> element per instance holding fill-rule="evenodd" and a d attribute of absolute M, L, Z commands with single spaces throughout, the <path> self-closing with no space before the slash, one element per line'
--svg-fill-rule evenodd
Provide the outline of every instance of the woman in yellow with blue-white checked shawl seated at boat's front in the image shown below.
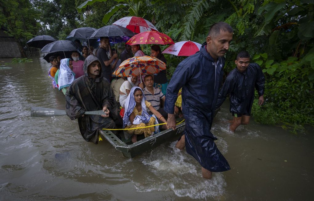
<path fill-rule="evenodd" d="M 155 131 L 154 126 L 139 128 L 155 124 L 155 117 L 150 116 L 147 113 L 147 109 L 149 109 L 160 121 L 164 123 L 167 122 L 165 117 L 163 117 L 148 101 L 145 100 L 142 89 L 134 86 L 125 101 L 125 111 L 123 117 L 123 128 L 138 128 L 127 130 L 129 134 L 133 135 L 133 143 L 137 142 L 137 135 L 144 133 L 145 137 L 149 137 Z M 163 125 L 163 129 L 168 128 L 168 126 Z"/>

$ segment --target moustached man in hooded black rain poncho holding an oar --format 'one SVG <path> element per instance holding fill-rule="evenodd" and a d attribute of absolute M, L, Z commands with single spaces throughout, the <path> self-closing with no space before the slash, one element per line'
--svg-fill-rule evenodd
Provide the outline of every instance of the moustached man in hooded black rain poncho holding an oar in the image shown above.
<path fill-rule="evenodd" d="M 101 128 L 116 128 L 121 121 L 118 106 L 110 83 L 101 72 L 101 62 L 89 55 L 83 65 L 84 75 L 74 80 L 66 92 L 66 112 L 72 119 L 78 119 L 83 138 L 98 143 Z M 83 115 L 85 111 L 103 110 L 104 115 Z"/>

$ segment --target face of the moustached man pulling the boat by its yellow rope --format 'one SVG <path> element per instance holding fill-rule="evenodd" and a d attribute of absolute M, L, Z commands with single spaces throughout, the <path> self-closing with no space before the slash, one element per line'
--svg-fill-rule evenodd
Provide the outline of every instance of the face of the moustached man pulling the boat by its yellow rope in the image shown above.
<path fill-rule="evenodd" d="M 209 36 L 208 36 L 209 37 Z M 232 33 L 226 31 L 220 31 L 220 34 L 217 37 L 211 37 L 207 41 L 207 50 L 208 53 L 214 58 L 225 56 L 225 53 L 229 49 L 230 42 L 232 41 Z"/>

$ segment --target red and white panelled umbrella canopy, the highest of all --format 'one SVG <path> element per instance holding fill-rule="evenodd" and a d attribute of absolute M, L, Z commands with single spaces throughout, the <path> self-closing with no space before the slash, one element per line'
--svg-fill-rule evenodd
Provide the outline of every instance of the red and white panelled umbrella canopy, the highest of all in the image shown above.
<path fill-rule="evenodd" d="M 128 28 L 136 34 L 145 31 L 158 31 L 157 28 L 148 20 L 135 16 L 121 18 L 112 24 Z"/>

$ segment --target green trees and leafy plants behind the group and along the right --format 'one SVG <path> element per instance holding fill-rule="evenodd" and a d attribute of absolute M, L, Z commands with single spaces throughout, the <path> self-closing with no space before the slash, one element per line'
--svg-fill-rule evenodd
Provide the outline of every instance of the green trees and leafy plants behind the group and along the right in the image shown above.
<path fill-rule="evenodd" d="M 314 3 L 311 0 L 12 0 L 1 1 L 0 25 L 23 44 L 35 35 L 65 39 L 78 27 L 100 28 L 136 15 L 175 42 L 203 43 L 209 27 L 234 28 L 225 74 L 236 54 L 247 50 L 266 76 L 265 104 L 252 115 L 263 124 L 294 129 L 314 125 Z M 149 54 L 149 46 L 143 46 Z M 168 78 L 183 57 L 165 55 Z"/>

